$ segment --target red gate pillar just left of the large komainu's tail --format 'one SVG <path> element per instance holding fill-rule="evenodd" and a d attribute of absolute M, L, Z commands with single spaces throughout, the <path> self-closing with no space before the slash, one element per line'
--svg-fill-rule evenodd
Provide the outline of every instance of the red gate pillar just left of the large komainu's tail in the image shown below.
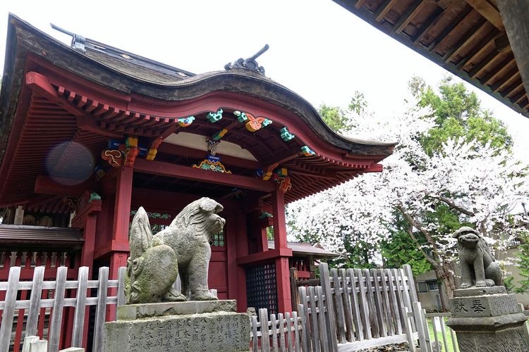
<path fill-rule="evenodd" d="M 110 255 L 109 279 L 118 278 L 118 270 L 127 265 L 128 257 L 128 222 L 130 220 L 130 202 L 132 200 L 133 168 L 121 168 L 116 175 L 116 199 L 114 201 L 114 220 Z M 111 296 L 116 289 L 110 289 Z M 107 306 L 107 321 L 116 318 L 116 307 Z"/>

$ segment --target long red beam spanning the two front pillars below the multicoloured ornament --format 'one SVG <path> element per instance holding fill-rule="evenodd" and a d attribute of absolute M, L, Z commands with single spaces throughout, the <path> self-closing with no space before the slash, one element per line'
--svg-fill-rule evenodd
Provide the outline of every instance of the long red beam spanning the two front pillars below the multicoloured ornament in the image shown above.
<path fill-rule="evenodd" d="M 175 165 L 161 161 L 147 161 L 140 158 L 136 159 L 134 170 L 152 175 L 183 178 L 186 180 L 213 184 L 224 184 L 226 186 L 253 189 L 256 191 L 269 192 L 273 191 L 275 188 L 272 182 L 263 181 L 257 178 L 201 170 L 191 168 L 190 166 Z"/>

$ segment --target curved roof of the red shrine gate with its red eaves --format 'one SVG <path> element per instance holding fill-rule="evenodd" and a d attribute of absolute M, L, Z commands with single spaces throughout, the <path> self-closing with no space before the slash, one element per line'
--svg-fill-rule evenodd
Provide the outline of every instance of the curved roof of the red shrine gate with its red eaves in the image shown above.
<path fill-rule="evenodd" d="M 155 161 L 141 153 L 133 161 L 135 187 L 198 191 L 189 167 L 207 153 L 170 142 L 186 132 L 218 137 L 254 157 L 221 155 L 229 177 L 196 170 L 198 180 L 221 184 L 204 186 L 206 194 L 231 196 L 237 181 L 266 192 L 262 174 L 288 170 L 287 202 L 381 171 L 377 163 L 395 146 L 334 133 L 308 101 L 259 73 L 234 68 L 194 75 L 91 39 L 80 52 L 13 15 L 0 111 L 0 206 L 35 198 L 46 177 L 89 182 L 79 175 L 88 163 L 79 156 L 94 156 L 93 171 L 109 140 L 128 137 L 158 151 Z"/>

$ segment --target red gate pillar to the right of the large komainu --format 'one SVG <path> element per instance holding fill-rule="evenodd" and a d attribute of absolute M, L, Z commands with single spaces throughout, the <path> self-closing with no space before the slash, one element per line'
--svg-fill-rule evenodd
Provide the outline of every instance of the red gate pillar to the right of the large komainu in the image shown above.
<path fill-rule="evenodd" d="M 285 198 L 282 191 L 276 189 L 272 192 L 272 213 L 274 214 L 274 244 L 279 253 L 288 248 L 286 243 Z M 290 253 L 291 256 L 291 251 Z M 292 298 L 290 292 L 290 273 L 288 271 L 288 254 L 281 255 L 275 260 L 276 286 L 277 286 L 277 313 L 292 311 Z"/>

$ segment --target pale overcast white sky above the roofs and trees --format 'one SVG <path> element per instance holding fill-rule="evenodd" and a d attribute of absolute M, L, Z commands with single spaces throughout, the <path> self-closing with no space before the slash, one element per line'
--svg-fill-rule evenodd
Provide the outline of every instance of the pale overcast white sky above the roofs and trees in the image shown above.
<path fill-rule="evenodd" d="M 413 75 L 431 85 L 450 75 L 331 0 L 1 0 L 2 68 L 9 12 L 68 44 L 71 38 L 49 23 L 193 73 L 221 70 L 269 44 L 257 59 L 268 77 L 314 106 L 346 107 L 358 90 L 380 116 L 402 111 Z M 474 90 L 506 122 L 518 158 L 529 163 L 529 118 Z"/>

